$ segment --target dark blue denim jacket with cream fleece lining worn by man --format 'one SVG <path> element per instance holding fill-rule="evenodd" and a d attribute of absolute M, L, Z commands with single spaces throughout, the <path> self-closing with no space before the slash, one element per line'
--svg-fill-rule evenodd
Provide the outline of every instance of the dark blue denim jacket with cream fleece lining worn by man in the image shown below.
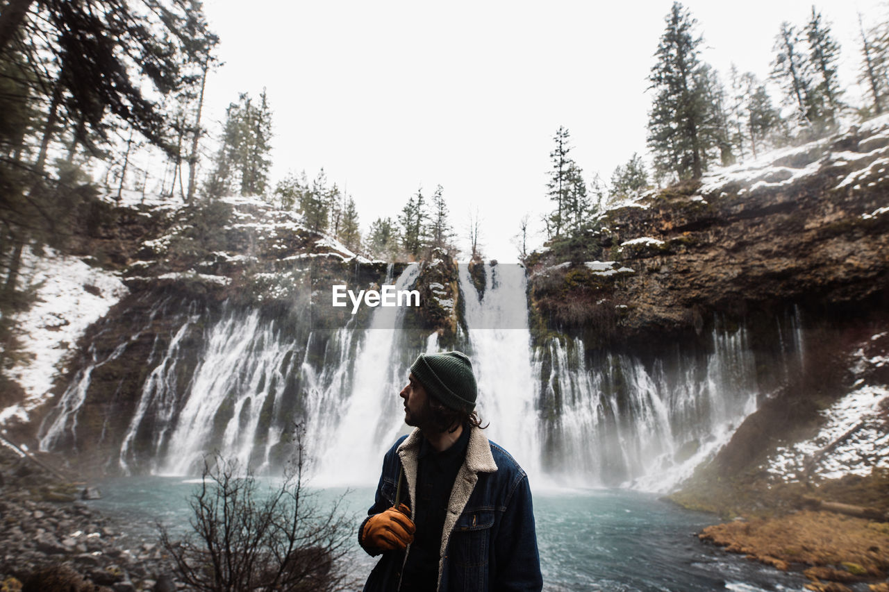
<path fill-rule="evenodd" d="M 368 516 L 395 503 L 404 469 L 401 501 L 413 508 L 420 452 L 419 429 L 400 438 L 386 453 L 380 484 Z M 364 524 L 362 524 L 364 528 Z M 360 532 L 360 531 L 359 531 Z M 371 555 L 379 554 L 365 548 Z M 386 551 L 373 568 L 364 592 L 395 592 L 404 551 Z M 518 463 L 479 428 L 472 428 L 466 460 L 454 479 L 438 561 L 438 592 L 543 588 L 528 477 Z"/>

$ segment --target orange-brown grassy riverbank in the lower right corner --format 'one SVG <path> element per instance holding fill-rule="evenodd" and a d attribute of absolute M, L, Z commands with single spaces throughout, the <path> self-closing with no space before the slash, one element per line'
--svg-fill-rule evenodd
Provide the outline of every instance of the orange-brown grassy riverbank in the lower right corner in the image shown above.
<path fill-rule="evenodd" d="M 817 484 L 706 481 L 670 496 L 685 508 L 731 519 L 703 528 L 700 540 L 782 572 L 802 572 L 815 592 L 889 592 L 889 471 Z"/>

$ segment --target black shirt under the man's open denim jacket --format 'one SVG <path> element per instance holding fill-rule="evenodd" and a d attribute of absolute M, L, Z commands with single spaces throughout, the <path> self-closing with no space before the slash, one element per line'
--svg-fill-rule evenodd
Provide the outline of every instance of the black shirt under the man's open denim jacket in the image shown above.
<path fill-rule="evenodd" d="M 436 589 L 447 503 L 451 499 L 453 481 L 466 459 L 468 443 L 469 428 L 465 427 L 457 441 L 442 452 L 436 452 L 426 438 L 420 443 L 417 500 L 412 513 L 417 530 L 404 564 L 403 592 Z"/>

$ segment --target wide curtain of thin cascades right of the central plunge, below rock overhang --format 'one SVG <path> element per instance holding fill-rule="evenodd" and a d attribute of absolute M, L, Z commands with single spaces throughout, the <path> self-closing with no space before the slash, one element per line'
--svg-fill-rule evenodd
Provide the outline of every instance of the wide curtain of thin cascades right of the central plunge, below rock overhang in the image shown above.
<path fill-rule="evenodd" d="M 534 361 L 549 477 L 571 486 L 666 491 L 716 452 L 757 409 L 756 359 L 744 328 L 717 328 L 703 358 L 665 353 L 587 356 L 581 340 L 553 338 Z M 593 360 L 592 364 L 588 360 Z"/>

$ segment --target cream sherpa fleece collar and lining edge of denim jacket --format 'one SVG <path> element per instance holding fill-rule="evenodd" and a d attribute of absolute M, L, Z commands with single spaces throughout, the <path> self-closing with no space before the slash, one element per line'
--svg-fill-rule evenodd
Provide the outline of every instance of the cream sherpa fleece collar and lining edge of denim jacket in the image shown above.
<path fill-rule="evenodd" d="M 404 467 L 404 477 L 407 479 L 407 492 L 411 500 L 411 508 L 413 508 L 413 500 L 416 500 L 417 493 L 417 468 L 420 463 L 420 443 L 423 437 L 420 428 L 413 428 L 410 436 L 398 446 L 398 457 L 401 459 L 402 467 Z M 451 489 L 451 499 L 447 503 L 447 514 L 445 514 L 445 524 L 442 525 L 442 546 L 438 554 L 438 583 L 441 584 L 442 572 L 445 570 L 445 551 L 447 550 L 448 540 L 451 539 L 453 527 L 457 524 L 457 518 L 466 507 L 472 490 L 476 487 L 479 473 L 493 473 L 497 470 L 497 463 L 494 462 L 491 453 L 491 444 L 488 438 L 479 428 L 472 428 L 469 432 L 469 443 L 466 445 L 466 460 L 457 472 L 456 478 L 453 480 L 453 488 Z M 411 546 L 407 546 L 407 552 L 404 553 L 404 560 L 407 560 L 407 554 L 411 552 Z"/>

